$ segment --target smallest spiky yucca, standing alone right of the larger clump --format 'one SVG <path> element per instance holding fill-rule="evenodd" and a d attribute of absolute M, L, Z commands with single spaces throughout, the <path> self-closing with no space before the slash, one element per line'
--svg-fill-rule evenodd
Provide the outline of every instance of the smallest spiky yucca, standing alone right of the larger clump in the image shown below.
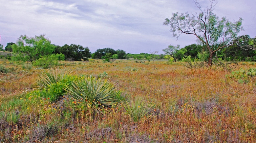
<path fill-rule="evenodd" d="M 124 109 L 131 115 L 134 122 L 138 122 L 140 118 L 147 115 L 155 105 L 152 102 L 146 101 L 143 97 L 139 96 L 132 99 L 130 103 L 127 101 L 122 103 Z"/>

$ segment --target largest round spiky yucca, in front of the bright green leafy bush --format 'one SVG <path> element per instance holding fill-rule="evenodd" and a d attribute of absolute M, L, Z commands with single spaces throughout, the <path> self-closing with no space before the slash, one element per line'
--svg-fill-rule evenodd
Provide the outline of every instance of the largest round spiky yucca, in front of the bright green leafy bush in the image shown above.
<path fill-rule="evenodd" d="M 84 101 L 90 107 L 103 107 L 116 103 L 115 85 L 107 79 L 85 77 L 74 81 L 72 86 L 66 87 L 66 90 L 69 98 Z"/>

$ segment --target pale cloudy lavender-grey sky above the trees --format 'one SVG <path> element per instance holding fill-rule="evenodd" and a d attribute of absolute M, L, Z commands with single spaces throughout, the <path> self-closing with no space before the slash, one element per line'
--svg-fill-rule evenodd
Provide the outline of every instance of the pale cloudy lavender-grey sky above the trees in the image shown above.
<path fill-rule="evenodd" d="M 198 0 L 203 8 L 210 0 Z M 244 19 L 239 35 L 256 36 L 255 0 L 219 0 L 214 14 L 234 22 Z M 21 35 L 45 34 L 54 45 L 76 44 L 126 53 L 164 53 L 168 45 L 197 43 L 194 35 L 172 36 L 163 25 L 172 13 L 198 12 L 193 0 L 0 0 L 0 44 Z"/>

